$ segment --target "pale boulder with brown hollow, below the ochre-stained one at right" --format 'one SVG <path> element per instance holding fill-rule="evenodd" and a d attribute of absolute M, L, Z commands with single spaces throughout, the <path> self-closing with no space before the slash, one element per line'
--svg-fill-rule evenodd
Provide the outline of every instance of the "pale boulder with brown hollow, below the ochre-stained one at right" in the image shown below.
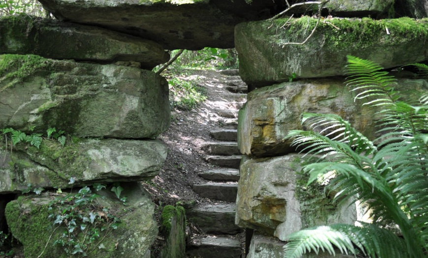
<path fill-rule="evenodd" d="M 238 183 L 235 223 L 285 241 L 309 226 L 354 224 L 355 205 L 334 203 L 324 186 L 306 186 L 302 165 L 310 162 L 290 154 L 270 159 L 244 158 Z"/>

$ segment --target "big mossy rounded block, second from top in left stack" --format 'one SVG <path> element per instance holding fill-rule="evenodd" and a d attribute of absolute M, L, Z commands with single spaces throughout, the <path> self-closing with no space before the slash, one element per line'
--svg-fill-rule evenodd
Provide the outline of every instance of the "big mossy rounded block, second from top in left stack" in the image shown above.
<path fill-rule="evenodd" d="M 168 83 L 152 71 L 0 56 L 0 128 L 152 138 L 170 119 Z"/>

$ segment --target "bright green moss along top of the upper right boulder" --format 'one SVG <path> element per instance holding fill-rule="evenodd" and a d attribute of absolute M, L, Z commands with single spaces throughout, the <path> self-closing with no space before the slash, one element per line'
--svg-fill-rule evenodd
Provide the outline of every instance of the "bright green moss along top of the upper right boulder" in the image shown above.
<path fill-rule="evenodd" d="M 275 20 L 276 28 L 282 27 L 288 19 Z M 302 42 L 315 27 L 317 19 L 302 17 L 292 19 L 286 30 L 281 30 L 283 34 L 277 38 L 277 43 Z M 390 34 L 388 34 L 388 32 Z M 427 39 L 428 40 L 428 19 L 415 20 L 408 17 L 398 19 L 373 20 L 363 19 L 329 19 L 319 23 L 316 33 L 324 35 L 325 45 L 332 45 L 339 49 L 369 48 L 378 42 L 387 42 L 392 45 L 400 44 L 401 40 Z M 286 40 L 284 40 L 286 38 Z M 306 45 L 310 47 L 310 42 Z"/>

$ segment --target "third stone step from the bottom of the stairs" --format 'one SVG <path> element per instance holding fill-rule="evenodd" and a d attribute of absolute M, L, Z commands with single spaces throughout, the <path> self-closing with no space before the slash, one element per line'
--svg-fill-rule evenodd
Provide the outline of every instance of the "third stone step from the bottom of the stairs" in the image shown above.
<path fill-rule="evenodd" d="M 202 197 L 220 200 L 220 201 L 236 201 L 236 195 L 238 194 L 238 183 L 206 183 L 196 184 L 192 186 L 193 191 Z"/>

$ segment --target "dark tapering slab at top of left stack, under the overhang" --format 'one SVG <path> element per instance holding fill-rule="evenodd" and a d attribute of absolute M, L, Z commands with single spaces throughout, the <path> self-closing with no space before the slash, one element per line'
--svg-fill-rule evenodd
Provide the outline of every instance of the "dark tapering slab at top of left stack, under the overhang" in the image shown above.
<path fill-rule="evenodd" d="M 146 69 L 169 60 L 164 49 L 150 40 L 28 15 L 1 17 L 0 54 L 34 54 L 104 64 L 133 61 Z"/>

